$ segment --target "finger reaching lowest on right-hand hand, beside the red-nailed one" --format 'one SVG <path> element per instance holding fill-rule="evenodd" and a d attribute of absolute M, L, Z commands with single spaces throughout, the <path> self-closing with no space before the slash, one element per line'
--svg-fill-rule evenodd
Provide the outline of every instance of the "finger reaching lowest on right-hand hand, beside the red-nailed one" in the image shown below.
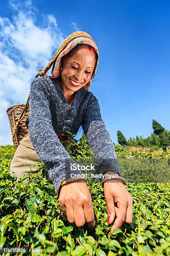
<path fill-rule="evenodd" d="M 117 203 L 117 215 L 116 215 L 115 223 L 112 225 L 112 228 L 110 230 L 111 233 L 116 228 L 120 228 L 122 224 L 125 222 L 127 206 L 128 206 L 127 201 Z"/>

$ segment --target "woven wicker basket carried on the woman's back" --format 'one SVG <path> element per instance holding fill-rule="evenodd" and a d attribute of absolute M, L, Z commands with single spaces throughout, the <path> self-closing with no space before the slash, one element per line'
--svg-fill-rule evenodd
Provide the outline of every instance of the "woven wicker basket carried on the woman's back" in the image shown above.
<path fill-rule="evenodd" d="M 14 143 L 16 149 L 18 148 L 20 141 L 28 133 L 28 131 L 25 129 L 26 128 L 25 121 L 30 113 L 29 105 L 28 105 L 26 112 L 24 111 L 25 114 L 23 115 L 23 118 L 22 118 L 22 113 L 23 113 L 23 110 L 26 108 L 26 105 L 27 105 L 27 103 L 13 105 L 7 109 L 7 115 L 8 115 L 8 119 L 10 122 L 10 128 L 11 128 L 11 132 L 13 134 L 12 140 L 13 140 L 13 143 Z M 20 122 L 17 125 L 17 122 L 20 117 L 21 117 Z M 18 128 L 17 128 L 17 126 L 18 126 Z"/>

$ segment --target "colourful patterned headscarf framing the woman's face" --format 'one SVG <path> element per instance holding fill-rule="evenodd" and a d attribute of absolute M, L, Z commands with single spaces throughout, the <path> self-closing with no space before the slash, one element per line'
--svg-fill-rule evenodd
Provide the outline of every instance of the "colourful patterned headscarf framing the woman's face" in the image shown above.
<path fill-rule="evenodd" d="M 58 58 L 57 58 L 57 60 L 55 62 L 54 70 L 53 70 L 52 75 L 50 76 L 50 78 L 56 78 L 56 77 L 60 76 L 60 66 L 61 66 L 61 58 L 62 58 L 62 56 L 66 55 L 77 44 L 86 44 L 86 45 L 92 46 L 93 49 L 95 50 L 95 52 L 97 53 L 98 58 L 97 58 L 97 65 L 96 65 L 96 68 L 95 68 L 95 73 L 96 73 L 97 67 L 98 67 L 98 64 L 99 64 L 99 52 L 98 52 L 98 49 L 97 49 L 97 45 L 90 38 L 87 38 L 87 37 L 77 37 L 77 38 L 73 39 L 70 43 L 68 43 L 66 48 L 59 54 L 59 56 L 58 56 Z M 85 84 L 83 86 L 85 88 L 85 90 L 89 91 L 91 82 L 92 82 L 92 79 L 87 84 Z"/>

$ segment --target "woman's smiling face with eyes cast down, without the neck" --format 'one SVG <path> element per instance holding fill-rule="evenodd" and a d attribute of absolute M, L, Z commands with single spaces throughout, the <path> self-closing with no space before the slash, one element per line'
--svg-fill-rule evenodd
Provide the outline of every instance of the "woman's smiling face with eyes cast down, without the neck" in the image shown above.
<path fill-rule="evenodd" d="M 92 78 L 96 61 L 95 50 L 83 46 L 69 57 L 61 68 L 62 82 L 60 85 L 67 92 L 75 92 L 87 84 Z"/>

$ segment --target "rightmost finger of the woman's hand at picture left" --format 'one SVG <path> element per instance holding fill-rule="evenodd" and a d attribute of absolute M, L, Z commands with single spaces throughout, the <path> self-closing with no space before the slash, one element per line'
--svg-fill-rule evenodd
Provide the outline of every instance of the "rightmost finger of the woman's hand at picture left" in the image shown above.
<path fill-rule="evenodd" d="M 87 222 L 87 226 L 90 229 L 93 229 L 95 227 L 95 215 L 94 210 L 92 206 L 92 202 L 85 203 L 83 205 L 84 214 L 85 214 L 85 220 Z"/>

